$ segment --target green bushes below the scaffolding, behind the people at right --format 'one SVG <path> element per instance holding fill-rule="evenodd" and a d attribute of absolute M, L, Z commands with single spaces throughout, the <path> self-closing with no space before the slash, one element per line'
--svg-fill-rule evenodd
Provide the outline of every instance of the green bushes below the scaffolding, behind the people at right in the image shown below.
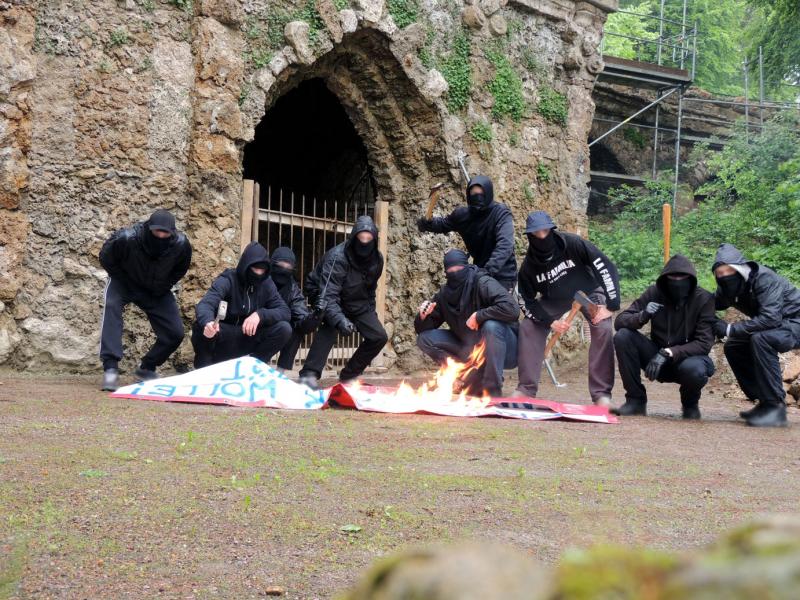
<path fill-rule="evenodd" d="M 787 113 L 761 134 L 739 131 L 706 157 L 711 179 L 698 190 L 706 199 L 673 217 L 671 250 L 694 261 L 707 289 L 715 285 L 710 267 L 722 242 L 800 284 L 799 128 L 800 119 Z M 590 236 L 620 270 L 623 294 L 639 294 L 662 268 L 661 206 L 671 201 L 672 184 L 623 186 L 609 195 L 621 210 L 611 221 L 592 221 Z"/>

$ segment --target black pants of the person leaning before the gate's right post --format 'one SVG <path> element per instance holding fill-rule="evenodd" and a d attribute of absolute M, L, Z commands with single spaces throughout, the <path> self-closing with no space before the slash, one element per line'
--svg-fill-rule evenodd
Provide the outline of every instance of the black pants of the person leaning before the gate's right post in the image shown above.
<path fill-rule="evenodd" d="M 361 375 L 389 341 L 386 330 L 378 319 L 378 313 L 374 310 L 358 316 L 347 314 L 345 316 L 353 322 L 363 340 L 339 373 L 339 378 L 343 380 L 355 379 Z M 317 330 L 311 348 L 308 350 L 306 362 L 300 371 L 301 377 L 303 375 L 322 376 L 322 370 L 325 368 L 328 354 L 336 343 L 337 335 L 336 328 L 327 323 Z"/>

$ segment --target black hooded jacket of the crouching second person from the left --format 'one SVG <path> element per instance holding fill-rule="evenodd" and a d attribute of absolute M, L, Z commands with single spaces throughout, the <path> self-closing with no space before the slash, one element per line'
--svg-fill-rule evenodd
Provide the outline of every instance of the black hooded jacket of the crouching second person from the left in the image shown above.
<path fill-rule="evenodd" d="M 240 325 L 256 311 L 263 325 L 289 321 L 292 316 L 289 307 L 278 294 L 272 279 L 267 277 L 258 285 L 247 282 L 247 269 L 259 262 L 269 264 L 269 255 L 264 246 L 251 242 L 242 252 L 237 267 L 225 269 L 197 303 L 195 315 L 200 327 L 205 327 L 216 318 L 222 300 L 228 303 L 224 323 Z"/>

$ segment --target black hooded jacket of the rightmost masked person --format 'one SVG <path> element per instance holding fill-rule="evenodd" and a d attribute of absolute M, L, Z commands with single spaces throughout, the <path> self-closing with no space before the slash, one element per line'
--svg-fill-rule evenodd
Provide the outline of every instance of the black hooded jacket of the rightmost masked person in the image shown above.
<path fill-rule="evenodd" d="M 750 319 L 731 324 L 730 335 L 748 336 L 757 331 L 775 329 L 785 320 L 800 320 L 800 289 L 772 269 L 748 261 L 732 244 L 722 244 L 717 250 L 714 266 L 748 265 L 750 276 L 744 292 L 735 299 L 726 298 L 719 288 L 715 294 L 716 309 L 733 306 Z"/>

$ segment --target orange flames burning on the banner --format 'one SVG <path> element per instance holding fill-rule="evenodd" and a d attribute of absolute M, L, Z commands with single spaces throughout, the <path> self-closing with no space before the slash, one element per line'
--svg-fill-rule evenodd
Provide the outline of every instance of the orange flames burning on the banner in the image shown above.
<path fill-rule="evenodd" d="M 413 388 L 405 381 L 397 389 L 396 397 L 400 400 L 418 399 L 435 404 L 458 402 L 460 404 L 484 407 L 489 401 L 489 394 L 484 390 L 483 396 L 467 396 L 464 382 L 470 375 L 478 371 L 486 361 L 486 344 L 483 340 L 475 345 L 465 362 L 448 358 L 447 362 L 426 383 Z"/>

